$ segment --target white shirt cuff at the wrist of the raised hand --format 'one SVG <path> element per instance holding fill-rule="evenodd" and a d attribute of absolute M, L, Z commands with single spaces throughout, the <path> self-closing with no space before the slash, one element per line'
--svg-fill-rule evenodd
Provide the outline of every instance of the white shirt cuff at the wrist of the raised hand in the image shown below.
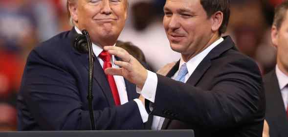
<path fill-rule="evenodd" d="M 148 99 L 151 102 L 155 102 L 155 95 L 156 95 L 156 89 L 157 89 L 157 82 L 158 78 L 157 75 L 149 70 L 147 79 L 144 83 L 144 86 L 141 91 L 141 95 Z"/>

